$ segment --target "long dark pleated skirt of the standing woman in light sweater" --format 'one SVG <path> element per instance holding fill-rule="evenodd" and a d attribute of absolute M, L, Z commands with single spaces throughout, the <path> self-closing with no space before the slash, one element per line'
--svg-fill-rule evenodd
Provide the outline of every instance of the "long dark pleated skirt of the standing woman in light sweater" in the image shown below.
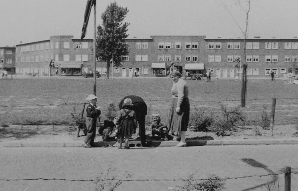
<path fill-rule="evenodd" d="M 189 99 L 184 98 L 180 106 L 180 113 L 176 112 L 177 99 L 173 98 L 169 114 L 169 130 L 187 131 L 189 120 Z"/>

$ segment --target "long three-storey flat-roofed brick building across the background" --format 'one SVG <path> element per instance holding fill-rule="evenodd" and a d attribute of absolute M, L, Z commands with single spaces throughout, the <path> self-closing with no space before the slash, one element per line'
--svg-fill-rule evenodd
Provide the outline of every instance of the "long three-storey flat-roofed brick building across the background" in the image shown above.
<path fill-rule="evenodd" d="M 111 67 L 109 76 L 168 76 L 175 68 L 182 74 L 204 74 L 212 77 L 235 78 L 248 64 L 248 77 L 266 77 L 271 71 L 277 76 L 298 74 L 298 39 L 206 38 L 206 36 L 150 36 L 127 38 L 129 54 L 121 66 Z M 80 76 L 93 71 L 93 39 L 73 36 L 51 36 L 49 40 L 16 46 L 16 73 L 41 76 Z M 246 58 L 244 56 L 246 51 Z M 105 76 L 106 61 L 96 59 L 96 70 Z"/>

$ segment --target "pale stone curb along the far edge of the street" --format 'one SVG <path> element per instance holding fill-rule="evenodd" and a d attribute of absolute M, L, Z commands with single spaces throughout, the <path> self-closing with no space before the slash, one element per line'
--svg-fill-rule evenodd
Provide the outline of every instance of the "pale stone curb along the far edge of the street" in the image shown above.
<path fill-rule="evenodd" d="M 190 140 L 186 141 L 187 146 L 218 146 L 218 145 L 269 145 L 269 144 L 298 144 L 298 139 L 235 139 L 235 140 Z M 115 144 L 116 141 L 95 142 L 96 147 L 107 147 Z M 178 141 L 151 141 L 151 147 L 173 147 L 177 145 Z M 82 141 L 73 142 L 21 142 L 21 141 L 7 141 L 0 142 L 1 147 L 82 147 Z M 139 141 L 129 141 L 130 147 L 141 147 Z"/>

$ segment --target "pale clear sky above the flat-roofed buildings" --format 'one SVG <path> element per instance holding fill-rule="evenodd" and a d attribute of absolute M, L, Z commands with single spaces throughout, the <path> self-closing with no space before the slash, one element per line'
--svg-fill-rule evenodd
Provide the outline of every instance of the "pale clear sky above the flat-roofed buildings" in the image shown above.
<path fill-rule="evenodd" d="M 242 37 L 247 6 L 237 0 L 115 0 L 127 7 L 128 38 L 154 35 L 203 35 L 207 38 Z M 97 0 L 96 24 L 111 0 Z M 87 0 L 0 0 L 0 47 L 50 36 L 80 38 Z M 226 7 L 223 5 L 226 4 Z M 252 0 L 248 37 L 298 36 L 297 0 Z M 241 27 L 241 29 L 240 29 Z M 93 11 L 85 38 L 93 38 Z"/>

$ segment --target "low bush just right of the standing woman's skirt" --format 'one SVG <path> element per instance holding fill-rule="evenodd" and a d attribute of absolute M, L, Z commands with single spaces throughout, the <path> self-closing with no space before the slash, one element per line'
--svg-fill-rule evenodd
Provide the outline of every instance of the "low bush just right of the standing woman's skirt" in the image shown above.
<path fill-rule="evenodd" d="M 206 115 L 203 110 L 195 107 L 195 111 L 190 113 L 188 125 L 193 131 L 209 132 L 213 121 L 212 114 Z"/>

